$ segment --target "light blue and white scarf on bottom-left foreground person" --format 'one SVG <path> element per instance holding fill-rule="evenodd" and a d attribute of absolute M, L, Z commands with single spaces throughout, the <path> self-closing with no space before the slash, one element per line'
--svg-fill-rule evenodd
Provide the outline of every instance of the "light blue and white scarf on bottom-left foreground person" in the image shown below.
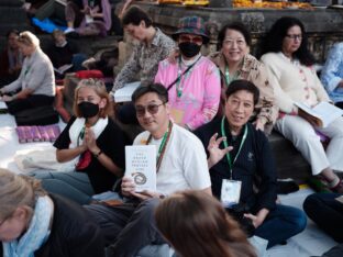
<path fill-rule="evenodd" d="M 47 241 L 51 234 L 51 220 L 54 213 L 52 200 L 45 195 L 36 200 L 29 230 L 20 238 L 2 243 L 3 257 L 34 257 L 34 252 Z"/>

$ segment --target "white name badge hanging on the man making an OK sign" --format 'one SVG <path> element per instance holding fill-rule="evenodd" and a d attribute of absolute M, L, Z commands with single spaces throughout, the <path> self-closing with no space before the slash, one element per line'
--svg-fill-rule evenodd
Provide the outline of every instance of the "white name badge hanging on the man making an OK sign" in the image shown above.
<path fill-rule="evenodd" d="M 242 181 L 223 179 L 221 188 L 221 202 L 225 208 L 231 208 L 240 202 Z"/>

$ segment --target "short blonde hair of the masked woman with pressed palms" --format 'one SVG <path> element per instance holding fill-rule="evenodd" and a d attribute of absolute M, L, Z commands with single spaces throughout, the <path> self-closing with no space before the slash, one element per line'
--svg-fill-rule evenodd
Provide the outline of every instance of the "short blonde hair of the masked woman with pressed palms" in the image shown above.
<path fill-rule="evenodd" d="M 81 118 L 81 112 L 78 108 L 77 104 L 77 98 L 78 98 L 78 91 L 81 88 L 91 88 L 92 90 L 95 90 L 95 92 L 101 98 L 101 99 L 106 99 L 106 105 L 104 108 L 100 109 L 99 112 L 99 116 L 100 118 L 106 118 L 112 114 L 113 112 L 113 108 L 112 108 L 112 102 L 110 102 L 110 97 L 109 93 L 106 90 L 106 86 L 104 82 L 100 79 L 93 79 L 93 78 L 89 78 L 89 79 L 82 79 L 78 82 L 75 91 L 74 91 L 74 113 L 77 118 Z"/>

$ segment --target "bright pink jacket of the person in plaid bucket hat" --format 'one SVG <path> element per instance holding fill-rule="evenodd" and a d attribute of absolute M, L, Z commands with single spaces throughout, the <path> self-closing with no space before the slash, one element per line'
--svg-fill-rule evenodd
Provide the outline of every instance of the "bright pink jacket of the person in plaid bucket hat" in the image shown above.
<path fill-rule="evenodd" d="M 186 68 L 181 65 L 181 72 Z M 155 82 L 168 88 L 178 77 L 178 62 L 162 60 L 158 65 Z M 190 130 L 196 130 L 210 122 L 217 114 L 221 93 L 220 75 L 217 66 L 209 58 L 202 56 L 182 76 L 179 85 L 182 88 L 180 98 L 177 97 L 177 85 L 174 85 L 168 91 L 172 118 L 175 122 L 181 125 L 186 124 Z"/>

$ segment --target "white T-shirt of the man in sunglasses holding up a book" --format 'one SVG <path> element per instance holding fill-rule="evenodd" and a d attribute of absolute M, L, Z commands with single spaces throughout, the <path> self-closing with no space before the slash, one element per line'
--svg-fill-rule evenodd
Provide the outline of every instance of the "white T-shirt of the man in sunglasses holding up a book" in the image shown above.
<path fill-rule="evenodd" d="M 144 145 L 148 136 L 150 132 L 142 132 L 133 144 Z M 150 145 L 156 145 L 158 152 L 161 143 L 162 138 L 152 139 Z M 157 172 L 157 191 L 170 194 L 180 190 L 203 190 L 210 187 L 211 179 L 201 142 L 189 131 L 174 124 Z"/>

